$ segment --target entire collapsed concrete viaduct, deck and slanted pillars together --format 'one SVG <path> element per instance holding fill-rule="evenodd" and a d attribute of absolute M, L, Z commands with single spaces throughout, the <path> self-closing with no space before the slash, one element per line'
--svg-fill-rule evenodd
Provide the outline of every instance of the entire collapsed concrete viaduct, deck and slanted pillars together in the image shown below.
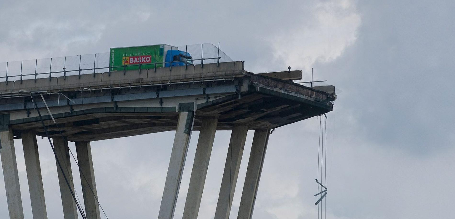
<path fill-rule="evenodd" d="M 100 219 L 90 142 L 176 131 L 158 215 L 172 219 L 190 136 L 200 131 L 183 212 L 183 219 L 196 219 L 215 132 L 232 130 L 215 212 L 215 219 L 227 219 L 247 131 L 254 130 L 238 212 L 239 219 L 249 219 L 270 130 L 333 108 L 333 86 L 305 87 L 293 79 L 301 79 L 301 71 L 253 74 L 234 61 L 0 82 L 0 154 L 10 219 L 24 218 L 16 138 L 24 147 L 33 218 L 47 219 L 36 142 L 36 136 L 47 137 L 44 127 L 65 167 L 57 168 L 65 219 L 78 218 L 72 179 L 68 186 L 64 177 L 73 174 L 68 141 L 76 143 L 86 217 Z"/>

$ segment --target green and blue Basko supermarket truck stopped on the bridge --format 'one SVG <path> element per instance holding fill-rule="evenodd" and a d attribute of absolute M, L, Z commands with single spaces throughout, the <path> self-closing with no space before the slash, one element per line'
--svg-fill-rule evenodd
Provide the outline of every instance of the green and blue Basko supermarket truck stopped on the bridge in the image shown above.
<path fill-rule="evenodd" d="M 191 55 L 167 44 L 111 48 L 110 71 L 193 65 Z"/>

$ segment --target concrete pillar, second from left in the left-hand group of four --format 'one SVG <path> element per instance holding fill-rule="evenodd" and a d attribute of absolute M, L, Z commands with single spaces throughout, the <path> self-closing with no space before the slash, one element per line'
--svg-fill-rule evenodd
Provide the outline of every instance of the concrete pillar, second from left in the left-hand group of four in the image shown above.
<path fill-rule="evenodd" d="M 30 191 L 31 211 L 34 219 L 47 219 L 44 200 L 43 178 L 41 177 L 38 143 L 34 130 L 22 131 L 22 147 L 24 148 L 25 168 Z"/>

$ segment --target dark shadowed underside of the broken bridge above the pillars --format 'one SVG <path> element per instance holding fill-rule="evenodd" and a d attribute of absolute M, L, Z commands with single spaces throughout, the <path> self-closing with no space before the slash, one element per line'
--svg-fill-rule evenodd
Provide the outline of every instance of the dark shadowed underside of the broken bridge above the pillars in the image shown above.
<path fill-rule="evenodd" d="M 46 114 L 45 110 L 41 111 Z M 179 116 L 175 107 L 159 109 L 171 112 L 156 111 L 156 107 L 101 107 L 73 112 L 73 115 L 56 114 L 56 123 L 49 116 L 44 117 L 51 138 L 62 134 L 74 142 L 175 131 Z M 246 124 L 249 130 L 257 130 L 280 127 L 329 111 L 327 108 L 258 92 L 240 98 L 238 95 L 228 95 L 198 104 L 193 130 L 201 129 L 204 117 L 218 117 L 217 130 L 232 130 L 233 126 L 240 124 Z M 31 119 L 33 118 L 28 120 Z M 11 127 L 16 138 L 20 138 L 21 131 L 30 129 L 36 135 L 45 137 L 39 117 L 35 117 L 35 122 L 14 124 Z"/>

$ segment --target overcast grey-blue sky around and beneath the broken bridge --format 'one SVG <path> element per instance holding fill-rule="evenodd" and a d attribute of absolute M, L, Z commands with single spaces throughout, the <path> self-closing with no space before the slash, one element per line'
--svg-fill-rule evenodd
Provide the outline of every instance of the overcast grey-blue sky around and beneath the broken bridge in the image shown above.
<path fill-rule="evenodd" d="M 291 66 L 309 80 L 313 68 L 315 79 L 342 91 L 327 114 L 327 218 L 455 215 L 454 1 L 91 2 L 0 1 L 0 62 L 220 42 L 247 71 Z M 173 135 L 91 144 L 98 198 L 110 219 L 157 218 Z M 197 136 L 193 132 L 187 167 Z M 215 213 L 229 137 L 216 134 L 200 219 Z M 317 218 L 318 137 L 316 118 L 273 132 L 253 218 Z M 252 138 L 248 132 L 231 218 L 237 217 Z M 47 213 L 62 218 L 55 158 L 45 139 L 38 143 Z M 31 218 L 20 140 L 15 148 L 25 218 Z M 70 148 L 75 152 L 74 144 Z M 190 171 L 183 173 L 176 219 Z M 79 174 L 74 180 L 82 199 Z M 3 180 L 0 188 L 0 218 L 8 218 Z"/>

